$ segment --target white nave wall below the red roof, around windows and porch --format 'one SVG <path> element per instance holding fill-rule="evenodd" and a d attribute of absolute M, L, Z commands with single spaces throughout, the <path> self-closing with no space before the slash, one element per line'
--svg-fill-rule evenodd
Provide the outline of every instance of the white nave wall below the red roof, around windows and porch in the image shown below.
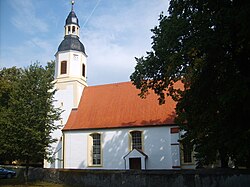
<path fill-rule="evenodd" d="M 143 152 L 148 156 L 146 169 L 172 169 L 170 127 L 64 131 L 64 168 L 125 169 L 124 156 L 131 151 L 131 130 L 143 132 Z M 101 167 L 89 167 L 88 164 L 87 142 L 91 133 L 102 135 Z"/>

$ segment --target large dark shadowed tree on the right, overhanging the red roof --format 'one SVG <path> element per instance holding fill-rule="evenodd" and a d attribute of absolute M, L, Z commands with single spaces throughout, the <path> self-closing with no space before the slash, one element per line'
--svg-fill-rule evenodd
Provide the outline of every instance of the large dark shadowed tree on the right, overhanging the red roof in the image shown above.
<path fill-rule="evenodd" d="M 230 157 L 249 167 L 250 1 L 172 0 L 152 32 L 152 51 L 131 75 L 141 96 L 153 89 L 160 103 L 166 93 L 177 101 L 176 122 L 198 165 L 227 167 Z"/>

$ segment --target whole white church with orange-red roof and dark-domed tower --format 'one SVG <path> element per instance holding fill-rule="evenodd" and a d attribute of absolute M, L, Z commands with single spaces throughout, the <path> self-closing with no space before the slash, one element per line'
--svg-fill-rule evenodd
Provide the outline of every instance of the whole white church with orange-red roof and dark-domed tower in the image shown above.
<path fill-rule="evenodd" d="M 55 106 L 64 110 L 52 134 L 53 161 L 46 168 L 180 169 L 194 168 L 190 150 L 179 143 L 176 103 L 159 105 L 152 92 L 141 99 L 131 82 L 87 85 L 87 55 L 80 25 L 71 11 L 56 53 Z M 176 84 L 176 87 L 182 85 Z"/>

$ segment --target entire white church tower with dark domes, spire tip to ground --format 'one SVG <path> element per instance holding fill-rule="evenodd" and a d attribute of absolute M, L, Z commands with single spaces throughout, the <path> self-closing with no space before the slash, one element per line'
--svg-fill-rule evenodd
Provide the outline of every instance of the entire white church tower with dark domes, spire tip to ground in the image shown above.
<path fill-rule="evenodd" d="M 61 128 L 52 133 L 56 142 L 52 148 L 52 162 L 44 163 L 46 168 L 63 168 L 63 137 L 62 128 L 66 124 L 70 112 L 77 108 L 84 87 L 87 86 L 87 64 L 85 48 L 79 40 L 80 26 L 74 12 L 74 1 L 64 26 L 64 39 L 55 54 L 55 107 L 63 110 L 61 120 L 55 122 Z"/>

